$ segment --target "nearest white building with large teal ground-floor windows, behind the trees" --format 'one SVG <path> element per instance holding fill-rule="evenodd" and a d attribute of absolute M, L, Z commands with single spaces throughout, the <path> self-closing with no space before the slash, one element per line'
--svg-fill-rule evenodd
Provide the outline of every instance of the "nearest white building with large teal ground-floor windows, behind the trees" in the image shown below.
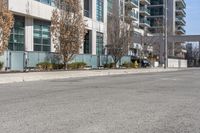
<path fill-rule="evenodd" d="M 82 0 L 87 25 L 81 54 L 103 53 L 106 44 L 107 0 Z M 50 36 L 53 0 L 8 0 L 14 14 L 9 50 L 54 52 Z"/>

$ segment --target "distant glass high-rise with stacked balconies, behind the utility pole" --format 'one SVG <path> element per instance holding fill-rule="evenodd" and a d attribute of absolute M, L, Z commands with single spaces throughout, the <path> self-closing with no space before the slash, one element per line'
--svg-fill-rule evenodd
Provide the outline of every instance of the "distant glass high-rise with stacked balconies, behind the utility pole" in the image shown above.
<path fill-rule="evenodd" d="M 148 5 L 150 10 L 150 16 L 148 19 L 150 20 L 150 33 L 154 35 L 163 34 L 165 28 L 165 0 L 151 0 L 151 4 Z M 186 31 L 184 26 L 186 25 L 186 21 L 184 17 L 186 16 L 185 8 L 186 3 L 184 0 L 168 0 L 167 1 L 167 28 L 168 35 L 185 35 Z M 174 42 L 168 44 L 168 53 L 169 55 L 176 56 L 176 48 L 175 45 L 181 45 L 184 42 Z M 163 51 L 164 47 L 161 44 L 161 50 Z M 162 52 L 161 52 L 162 53 Z"/>

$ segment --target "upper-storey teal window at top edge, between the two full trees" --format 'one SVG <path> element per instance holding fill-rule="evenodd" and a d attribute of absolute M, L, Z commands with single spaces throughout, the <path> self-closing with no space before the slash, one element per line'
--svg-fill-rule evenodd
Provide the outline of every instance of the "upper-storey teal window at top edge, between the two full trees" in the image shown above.
<path fill-rule="evenodd" d="M 103 6 L 104 6 L 103 0 L 97 0 L 96 1 L 96 6 L 97 6 L 97 9 L 96 9 L 97 21 L 103 22 L 103 15 L 104 15 L 104 13 L 103 13 L 103 10 L 104 10 L 104 8 L 103 8 Z"/>

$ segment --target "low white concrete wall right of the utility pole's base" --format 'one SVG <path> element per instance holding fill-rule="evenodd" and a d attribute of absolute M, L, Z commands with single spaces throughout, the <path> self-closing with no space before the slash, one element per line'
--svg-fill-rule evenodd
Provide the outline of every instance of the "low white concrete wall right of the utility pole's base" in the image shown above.
<path fill-rule="evenodd" d="M 169 68 L 187 68 L 187 60 L 184 59 L 168 59 Z"/>

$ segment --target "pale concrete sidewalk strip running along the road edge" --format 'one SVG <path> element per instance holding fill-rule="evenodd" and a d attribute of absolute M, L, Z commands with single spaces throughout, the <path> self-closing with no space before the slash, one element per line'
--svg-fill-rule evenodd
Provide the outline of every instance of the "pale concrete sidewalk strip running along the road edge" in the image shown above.
<path fill-rule="evenodd" d="M 123 74 L 151 73 L 151 72 L 169 72 L 169 71 L 179 71 L 179 70 L 183 70 L 183 69 L 148 68 L 148 69 L 119 69 L 119 70 L 110 69 L 110 70 L 4 73 L 4 74 L 0 74 L 0 84 L 25 82 L 25 81 L 91 77 L 91 76 L 108 76 L 108 75 L 123 75 Z"/>

